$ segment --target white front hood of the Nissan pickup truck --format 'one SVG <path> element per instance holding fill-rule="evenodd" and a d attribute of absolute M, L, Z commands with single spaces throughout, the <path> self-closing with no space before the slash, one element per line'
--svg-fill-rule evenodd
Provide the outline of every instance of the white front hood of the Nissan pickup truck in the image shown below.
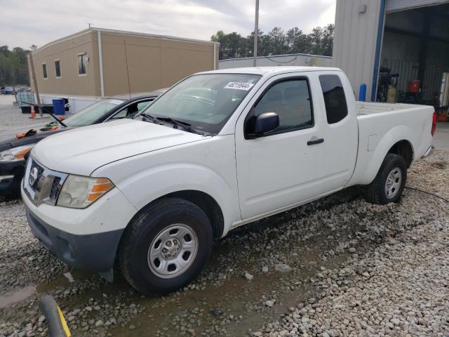
<path fill-rule="evenodd" d="M 54 171 L 90 176 L 112 161 L 205 138 L 170 126 L 121 119 L 45 138 L 33 147 L 32 157 Z"/>

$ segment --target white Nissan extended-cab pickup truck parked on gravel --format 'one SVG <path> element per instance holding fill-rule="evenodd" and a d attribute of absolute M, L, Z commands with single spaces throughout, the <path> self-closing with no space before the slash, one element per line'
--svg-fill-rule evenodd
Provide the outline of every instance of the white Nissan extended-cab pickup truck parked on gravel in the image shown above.
<path fill-rule="evenodd" d="M 199 275 L 213 240 L 342 190 L 398 201 L 432 148 L 433 107 L 356 103 L 335 68 L 194 74 L 140 117 L 41 140 L 22 199 L 43 246 L 144 293 Z"/>

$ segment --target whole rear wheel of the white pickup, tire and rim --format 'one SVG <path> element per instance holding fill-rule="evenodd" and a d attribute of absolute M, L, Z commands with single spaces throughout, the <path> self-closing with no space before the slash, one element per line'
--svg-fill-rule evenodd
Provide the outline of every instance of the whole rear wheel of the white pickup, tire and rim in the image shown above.
<path fill-rule="evenodd" d="M 387 154 L 376 178 L 363 186 L 362 194 L 372 204 L 389 204 L 401 199 L 407 180 L 407 164 L 398 154 Z"/>

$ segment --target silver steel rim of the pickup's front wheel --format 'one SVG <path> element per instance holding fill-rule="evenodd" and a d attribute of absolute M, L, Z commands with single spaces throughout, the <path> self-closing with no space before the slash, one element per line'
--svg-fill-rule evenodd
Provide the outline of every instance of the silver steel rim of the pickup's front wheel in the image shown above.
<path fill-rule="evenodd" d="M 185 272 L 198 253 L 199 241 L 189 225 L 175 223 L 159 232 L 149 246 L 147 261 L 154 275 L 171 279 Z"/>

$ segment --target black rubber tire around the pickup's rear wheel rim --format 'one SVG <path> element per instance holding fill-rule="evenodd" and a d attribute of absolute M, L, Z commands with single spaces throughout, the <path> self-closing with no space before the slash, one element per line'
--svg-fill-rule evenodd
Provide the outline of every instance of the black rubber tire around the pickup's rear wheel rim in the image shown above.
<path fill-rule="evenodd" d="M 385 186 L 387 184 L 387 178 L 389 174 L 398 168 L 401 170 L 400 186 L 394 191 L 394 195 L 388 196 L 385 192 Z M 362 187 L 361 191 L 366 201 L 371 204 L 385 205 L 390 202 L 397 202 L 401 199 L 404 186 L 407 181 L 407 164 L 403 157 L 398 154 L 389 153 L 385 156 L 379 172 L 377 172 L 376 178 L 369 185 Z"/>

